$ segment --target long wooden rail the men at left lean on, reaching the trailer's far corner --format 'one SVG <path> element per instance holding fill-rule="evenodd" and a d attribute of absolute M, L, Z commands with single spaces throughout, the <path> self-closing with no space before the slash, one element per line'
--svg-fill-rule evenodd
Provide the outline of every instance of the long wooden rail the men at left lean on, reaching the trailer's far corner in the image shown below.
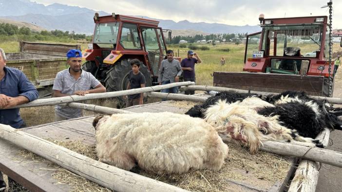
<path fill-rule="evenodd" d="M 49 98 L 49 99 L 38 99 L 38 100 L 32 101 L 30 103 L 23 104 L 23 105 L 17 105 L 15 107 L 11 107 L 11 108 L 57 105 L 57 104 L 65 104 L 65 103 L 72 103 L 72 102 L 78 102 L 78 101 L 85 101 L 85 100 L 90 100 L 90 99 L 119 97 L 119 96 L 124 96 L 124 95 L 131 95 L 131 94 L 138 94 L 138 93 L 143 93 L 143 92 L 156 91 L 156 90 L 161 90 L 164 88 L 188 86 L 188 85 L 194 85 L 194 84 L 195 84 L 194 82 L 187 81 L 187 82 L 178 82 L 178 83 L 171 83 L 171 84 L 167 84 L 167 85 L 135 88 L 135 89 L 129 89 L 129 90 L 122 90 L 122 91 L 113 91 L 113 92 L 105 92 L 105 93 L 90 93 L 90 94 L 86 94 L 85 96 L 72 95 L 72 96 L 66 96 L 66 97 L 53 97 L 53 98 Z"/>

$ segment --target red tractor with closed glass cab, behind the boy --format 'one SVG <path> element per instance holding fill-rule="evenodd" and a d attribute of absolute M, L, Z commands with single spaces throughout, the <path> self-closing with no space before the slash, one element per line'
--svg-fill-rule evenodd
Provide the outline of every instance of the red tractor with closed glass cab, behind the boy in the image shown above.
<path fill-rule="evenodd" d="M 86 62 L 82 69 L 91 72 L 107 91 L 125 90 L 129 61 L 139 59 L 140 71 L 146 78 L 146 87 L 157 83 L 157 72 L 166 55 L 164 33 L 171 41 L 171 30 L 158 27 L 159 21 L 115 15 L 94 16 L 93 42 L 85 50 Z"/>

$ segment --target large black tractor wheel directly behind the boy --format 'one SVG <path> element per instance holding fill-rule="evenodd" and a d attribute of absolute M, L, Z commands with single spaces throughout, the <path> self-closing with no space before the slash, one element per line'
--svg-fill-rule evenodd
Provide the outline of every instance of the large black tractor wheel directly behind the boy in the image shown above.
<path fill-rule="evenodd" d="M 110 70 L 107 71 L 107 77 L 104 80 L 106 84 L 107 91 L 120 91 L 126 90 L 129 82 L 128 74 L 132 70 L 131 65 L 128 63 L 126 59 L 123 59 L 117 63 L 115 63 Z M 152 86 L 152 78 L 151 72 L 147 69 L 145 65 L 140 66 L 140 72 L 145 76 L 146 87 Z M 125 106 L 126 101 L 123 97 L 118 97 L 118 108 L 122 108 Z M 147 101 L 147 98 L 144 98 L 144 103 Z"/>

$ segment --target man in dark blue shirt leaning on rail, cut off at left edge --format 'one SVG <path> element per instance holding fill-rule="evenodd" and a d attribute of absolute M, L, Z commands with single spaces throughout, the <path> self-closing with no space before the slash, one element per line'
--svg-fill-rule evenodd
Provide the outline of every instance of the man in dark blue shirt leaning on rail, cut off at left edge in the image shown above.
<path fill-rule="evenodd" d="M 19 108 L 8 108 L 37 98 L 38 91 L 25 74 L 21 70 L 6 67 L 6 55 L 0 48 L 0 123 L 14 128 L 26 127 L 20 117 Z M 6 184 L 0 172 L 0 191 L 4 191 L 5 188 Z"/>

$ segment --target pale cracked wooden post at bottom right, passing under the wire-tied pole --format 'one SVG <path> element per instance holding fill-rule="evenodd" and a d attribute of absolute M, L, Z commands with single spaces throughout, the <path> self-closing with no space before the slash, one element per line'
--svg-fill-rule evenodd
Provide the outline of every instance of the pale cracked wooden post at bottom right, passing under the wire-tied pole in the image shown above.
<path fill-rule="evenodd" d="M 316 139 L 320 140 L 325 147 L 329 144 L 329 136 L 330 130 L 324 129 Z M 315 161 L 301 160 L 288 192 L 315 192 L 319 178 L 319 168 L 319 163 Z"/>

